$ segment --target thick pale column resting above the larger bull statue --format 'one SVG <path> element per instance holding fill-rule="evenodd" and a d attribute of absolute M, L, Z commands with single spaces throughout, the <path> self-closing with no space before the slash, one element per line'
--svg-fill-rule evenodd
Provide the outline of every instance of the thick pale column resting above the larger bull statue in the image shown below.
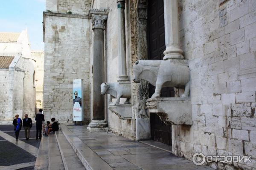
<path fill-rule="evenodd" d="M 171 58 L 183 59 L 178 36 L 178 2 L 177 0 L 163 0 L 164 3 L 164 29 L 166 50 L 163 52 L 164 60 Z"/>

